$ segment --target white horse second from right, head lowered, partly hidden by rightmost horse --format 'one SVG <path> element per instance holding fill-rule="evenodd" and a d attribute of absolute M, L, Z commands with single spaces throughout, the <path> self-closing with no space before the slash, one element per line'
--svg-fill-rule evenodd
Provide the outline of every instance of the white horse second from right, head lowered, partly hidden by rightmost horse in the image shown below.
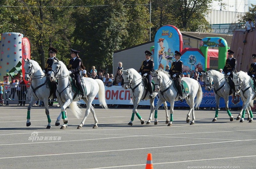
<path fill-rule="evenodd" d="M 219 113 L 219 105 L 220 105 L 220 97 L 224 98 L 225 101 L 225 108 L 228 113 L 229 119 L 232 122 L 234 120 L 234 117 L 230 113 L 228 109 L 228 96 L 230 87 L 228 85 L 228 82 L 225 80 L 225 74 L 220 73 L 216 70 L 209 70 L 205 73 L 202 73 L 204 83 L 205 83 L 205 90 L 211 91 L 213 88 L 213 91 L 215 93 L 215 100 L 216 100 L 216 111 L 215 111 L 215 117 L 212 120 L 212 122 L 217 121 L 218 113 Z M 243 100 L 243 98 L 242 98 Z M 248 116 L 250 116 L 249 111 L 247 110 Z M 238 120 L 239 116 L 237 116 Z"/>

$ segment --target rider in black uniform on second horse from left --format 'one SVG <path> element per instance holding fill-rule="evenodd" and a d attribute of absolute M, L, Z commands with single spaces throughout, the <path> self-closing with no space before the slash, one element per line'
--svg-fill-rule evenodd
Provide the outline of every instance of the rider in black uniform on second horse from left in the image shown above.
<path fill-rule="evenodd" d="M 86 97 L 83 84 L 81 84 L 81 76 L 80 76 L 80 67 L 85 69 L 82 60 L 79 58 L 78 53 L 80 51 L 76 51 L 71 49 L 71 57 L 68 61 L 68 69 L 70 74 L 74 74 L 76 80 L 76 86 L 79 88 L 82 96 L 81 98 L 84 99 Z"/>

